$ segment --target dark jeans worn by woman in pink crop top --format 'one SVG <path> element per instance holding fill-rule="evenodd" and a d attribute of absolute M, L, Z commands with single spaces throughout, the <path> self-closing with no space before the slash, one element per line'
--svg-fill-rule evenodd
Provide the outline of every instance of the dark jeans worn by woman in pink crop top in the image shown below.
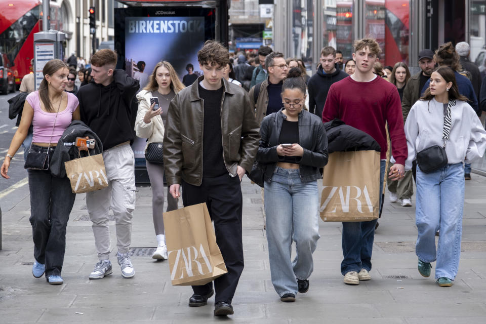
<path fill-rule="evenodd" d="M 47 149 L 37 145 L 31 147 L 36 152 Z M 50 151 L 52 154 L 54 148 Z M 66 177 L 54 177 L 50 170 L 29 170 L 28 173 L 34 258 L 46 265 L 46 278 L 60 275 L 66 250 L 66 226 L 76 194 L 72 193 Z"/>

